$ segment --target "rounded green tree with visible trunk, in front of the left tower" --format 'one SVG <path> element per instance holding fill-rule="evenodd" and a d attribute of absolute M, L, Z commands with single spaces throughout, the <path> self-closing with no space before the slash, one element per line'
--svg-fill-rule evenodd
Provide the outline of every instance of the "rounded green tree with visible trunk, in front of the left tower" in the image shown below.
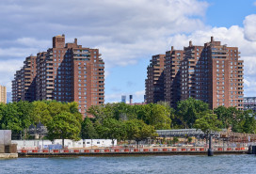
<path fill-rule="evenodd" d="M 82 118 L 82 115 L 80 115 Z M 47 124 L 48 137 L 50 140 L 60 138 L 62 139 L 62 146 L 64 147 L 64 139 L 69 138 L 79 140 L 81 131 L 81 122 L 75 115 L 69 112 L 62 112 L 57 114 Z"/>

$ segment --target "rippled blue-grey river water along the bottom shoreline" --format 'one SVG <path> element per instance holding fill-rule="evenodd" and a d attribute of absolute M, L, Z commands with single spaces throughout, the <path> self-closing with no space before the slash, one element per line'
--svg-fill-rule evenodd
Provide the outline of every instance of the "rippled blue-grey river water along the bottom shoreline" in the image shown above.
<path fill-rule="evenodd" d="M 50 157 L 0 160 L 0 173 L 256 173 L 255 155 Z"/>

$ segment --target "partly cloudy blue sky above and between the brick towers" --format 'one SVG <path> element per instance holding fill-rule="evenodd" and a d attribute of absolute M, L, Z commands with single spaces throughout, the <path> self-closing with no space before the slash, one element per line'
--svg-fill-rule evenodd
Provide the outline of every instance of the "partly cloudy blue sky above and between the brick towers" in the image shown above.
<path fill-rule="evenodd" d="M 245 61 L 245 96 L 256 96 L 256 0 L 0 1 L 0 85 L 11 91 L 24 58 L 52 47 L 52 37 L 98 48 L 105 62 L 105 103 L 143 102 L 152 55 L 211 36 L 236 46 Z"/>

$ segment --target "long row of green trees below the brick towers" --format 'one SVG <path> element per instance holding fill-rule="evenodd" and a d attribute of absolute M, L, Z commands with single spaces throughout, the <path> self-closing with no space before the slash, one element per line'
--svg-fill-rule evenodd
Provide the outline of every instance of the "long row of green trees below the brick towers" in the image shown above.
<path fill-rule="evenodd" d="M 231 129 L 237 133 L 256 132 L 255 113 L 235 107 L 209 109 L 207 103 L 189 98 L 170 108 L 168 103 L 130 105 L 106 103 L 88 108 L 90 118 L 82 119 L 77 103 L 35 101 L 0 103 L 0 129 L 12 130 L 14 138 L 28 138 L 27 129 L 39 123 L 48 129 L 48 138 L 111 138 L 142 140 L 154 130 L 198 128 L 205 133 Z"/>

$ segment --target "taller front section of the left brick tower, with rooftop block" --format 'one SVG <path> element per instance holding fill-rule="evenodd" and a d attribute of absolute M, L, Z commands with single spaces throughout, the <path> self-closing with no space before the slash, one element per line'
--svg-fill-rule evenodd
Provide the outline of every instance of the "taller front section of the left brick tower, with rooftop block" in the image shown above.
<path fill-rule="evenodd" d="M 34 100 L 74 101 L 85 117 L 89 106 L 104 103 L 104 61 L 100 56 L 98 49 L 82 47 L 76 39 L 65 43 L 64 35 L 54 37 L 53 48 L 36 57 Z M 18 73 L 13 81 L 13 91 L 19 87 L 17 76 Z M 13 95 L 14 99 L 16 102 Z"/>

